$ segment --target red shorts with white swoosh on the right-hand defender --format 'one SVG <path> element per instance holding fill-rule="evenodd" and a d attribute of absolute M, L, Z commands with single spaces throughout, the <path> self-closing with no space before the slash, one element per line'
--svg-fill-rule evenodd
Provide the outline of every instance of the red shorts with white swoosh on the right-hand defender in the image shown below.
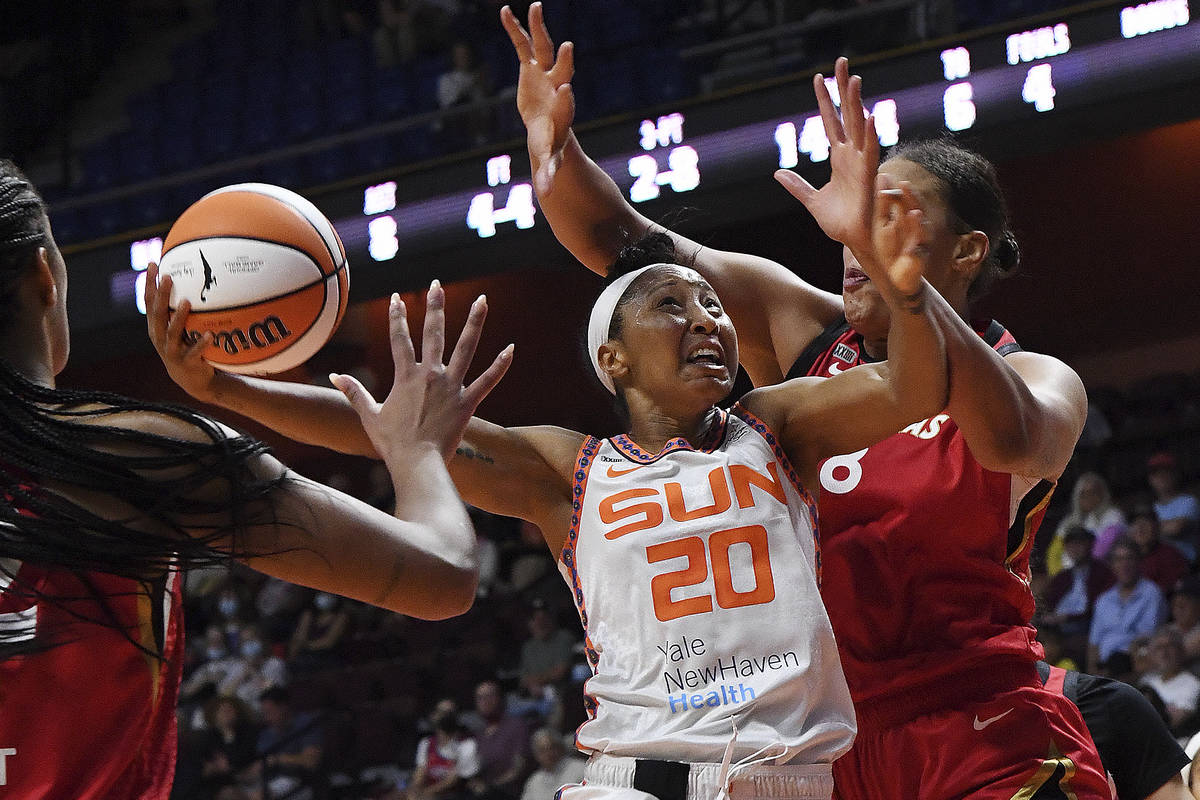
<path fill-rule="evenodd" d="M 865 711 L 833 774 L 840 800 L 1112 798 L 1079 709 L 1042 686 L 908 721 Z"/>

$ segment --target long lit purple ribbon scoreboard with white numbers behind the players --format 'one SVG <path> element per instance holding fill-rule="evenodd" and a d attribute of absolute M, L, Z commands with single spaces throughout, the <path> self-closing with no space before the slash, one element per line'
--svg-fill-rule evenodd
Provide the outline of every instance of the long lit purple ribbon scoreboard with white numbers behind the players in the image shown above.
<path fill-rule="evenodd" d="M 864 106 L 875 114 L 880 144 L 888 146 L 905 137 L 985 130 L 1120 102 L 1145 89 L 1200 85 L 1200 23 L 1192 19 L 1188 0 L 1114 5 L 900 55 L 860 72 Z M 832 79 L 827 85 L 838 103 L 836 85 Z M 886 91 L 871 95 L 872 86 Z M 829 142 L 804 83 L 775 91 L 810 110 L 784 116 L 768 110 L 766 119 L 746 119 L 722 114 L 728 101 L 714 101 L 584 131 L 581 139 L 634 204 L 682 201 L 695 190 L 760 180 L 775 168 L 803 172 L 827 161 Z M 763 107 L 786 108 L 778 102 Z M 728 125 L 730 116 L 738 124 Z M 601 146 L 590 144 L 601 139 Z M 456 182 L 439 181 L 449 188 L 432 194 L 428 176 L 420 190 L 412 176 L 356 190 L 361 215 L 335 219 L 355 265 L 362 269 L 365 259 L 380 266 L 407 264 L 539 229 L 548 235 L 523 149 L 496 154 L 474 170 L 476 178 L 463 181 L 469 173 L 460 164 Z M 322 205 L 322 198 L 313 199 Z M 109 281 L 112 313 L 144 312 L 139 281 L 161 248 L 161 239 L 130 246 L 131 270 Z"/>

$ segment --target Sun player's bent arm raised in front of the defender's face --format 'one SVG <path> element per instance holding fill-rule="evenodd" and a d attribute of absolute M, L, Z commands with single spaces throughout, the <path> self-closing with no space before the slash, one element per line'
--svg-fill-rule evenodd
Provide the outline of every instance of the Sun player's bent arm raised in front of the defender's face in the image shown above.
<path fill-rule="evenodd" d="M 871 263 L 886 266 L 870 277 L 892 311 L 888 361 L 799 378 L 743 401 L 775 427 L 808 482 L 821 459 L 869 446 L 946 405 L 946 350 L 932 311 L 944 300 L 923 277 L 924 215 L 907 184 L 893 188 L 884 176 L 878 184 Z"/>

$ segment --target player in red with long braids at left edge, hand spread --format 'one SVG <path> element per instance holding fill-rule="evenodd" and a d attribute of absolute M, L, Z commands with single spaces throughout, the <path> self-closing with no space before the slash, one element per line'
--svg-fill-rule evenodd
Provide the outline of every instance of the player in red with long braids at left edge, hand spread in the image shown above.
<path fill-rule="evenodd" d="M 188 566 L 236 558 L 432 619 L 470 606 L 475 537 L 444 458 L 509 363 L 462 387 L 482 306 L 443 367 L 440 318 L 418 362 L 392 305 L 392 393 L 355 407 L 394 480 L 391 517 L 185 408 L 59 389 L 66 264 L 7 161 L 0 285 L 0 796 L 166 800 Z"/>

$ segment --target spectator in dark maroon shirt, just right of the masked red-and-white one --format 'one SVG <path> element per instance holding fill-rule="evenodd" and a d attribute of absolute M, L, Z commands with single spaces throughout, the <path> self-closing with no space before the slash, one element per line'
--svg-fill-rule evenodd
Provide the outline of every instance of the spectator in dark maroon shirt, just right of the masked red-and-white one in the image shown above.
<path fill-rule="evenodd" d="M 516 800 L 529 771 L 529 723 L 505 714 L 504 694 L 494 680 L 475 687 L 475 730 L 479 772 L 468 781 L 473 795 L 486 800 Z"/>

